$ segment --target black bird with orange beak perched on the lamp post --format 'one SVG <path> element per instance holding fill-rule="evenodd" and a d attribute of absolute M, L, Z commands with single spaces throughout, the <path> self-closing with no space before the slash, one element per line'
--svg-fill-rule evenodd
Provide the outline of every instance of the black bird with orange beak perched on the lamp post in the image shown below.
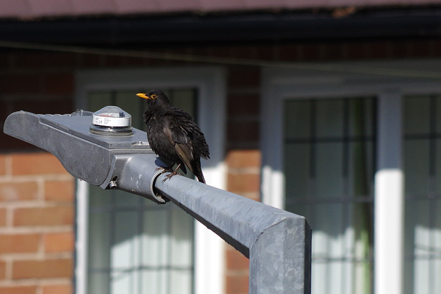
<path fill-rule="evenodd" d="M 192 116 L 170 105 L 168 97 L 161 90 L 136 96 L 147 99 L 144 121 L 150 147 L 160 158 L 172 162 L 170 166 L 163 167 L 164 171 L 173 171 L 172 167 L 177 165 L 164 181 L 178 174 L 179 168 L 187 174 L 187 165 L 199 182 L 205 183 L 201 157 L 208 159 L 209 149 L 204 134 Z"/>

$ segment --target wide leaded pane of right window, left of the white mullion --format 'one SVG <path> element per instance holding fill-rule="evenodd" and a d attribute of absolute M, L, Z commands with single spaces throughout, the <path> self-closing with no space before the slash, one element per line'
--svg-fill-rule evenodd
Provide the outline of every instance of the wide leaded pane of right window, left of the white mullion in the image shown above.
<path fill-rule="evenodd" d="M 284 109 L 286 209 L 313 229 L 312 293 L 371 293 L 375 99 Z"/>

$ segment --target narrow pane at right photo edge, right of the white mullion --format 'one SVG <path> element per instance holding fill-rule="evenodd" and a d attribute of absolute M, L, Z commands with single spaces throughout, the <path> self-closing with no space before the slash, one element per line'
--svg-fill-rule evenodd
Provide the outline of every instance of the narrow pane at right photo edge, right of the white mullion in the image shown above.
<path fill-rule="evenodd" d="M 404 98 L 405 293 L 441 283 L 441 96 Z"/>

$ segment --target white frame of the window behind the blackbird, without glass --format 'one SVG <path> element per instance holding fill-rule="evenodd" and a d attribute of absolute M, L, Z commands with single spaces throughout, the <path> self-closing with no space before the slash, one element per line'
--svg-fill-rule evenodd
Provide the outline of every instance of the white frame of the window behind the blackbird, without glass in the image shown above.
<path fill-rule="evenodd" d="M 201 162 L 209 185 L 225 189 L 225 71 L 220 67 L 150 67 L 148 69 L 81 70 L 76 73 L 76 108 L 84 109 L 88 93 L 192 87 L 198 90 L 198 125 L 210 147 L 210 159 Z M 134 93 L 134 99 L 136 99 Z M 88 109 L 85 109 L 88 110 Z M 76 294 L 87 293 L 88 188 L 76 188 Z M 225 293 L 224 242 L 199 222 L 194 230 L 194 293 Z"/>

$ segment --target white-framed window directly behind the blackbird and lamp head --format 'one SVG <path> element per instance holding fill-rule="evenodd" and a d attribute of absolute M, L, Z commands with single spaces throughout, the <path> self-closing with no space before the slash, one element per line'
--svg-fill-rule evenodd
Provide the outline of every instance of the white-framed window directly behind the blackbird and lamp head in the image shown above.
<path fill-rule="evenodd" d="M 78 108 L 117 105 L 145 128 L 145 101 L 159 88 L 197 120 L 210 146 L 209 185 L 224 188 L 225 78 L 215 67 L 90 70 L 76 76 Z M 223 241 L 169 202 L 77 185 L 76 293 L 223 293 Z"/>

